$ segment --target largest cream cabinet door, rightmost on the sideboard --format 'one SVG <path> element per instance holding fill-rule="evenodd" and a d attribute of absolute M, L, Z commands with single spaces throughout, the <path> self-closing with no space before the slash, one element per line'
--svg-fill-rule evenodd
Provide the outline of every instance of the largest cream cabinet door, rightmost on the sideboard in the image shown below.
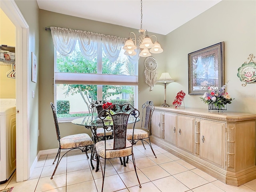
<path fill-rule="evenodd" d="M 200 120 L 200 158 L 225 168 L 225 124 Z"/>

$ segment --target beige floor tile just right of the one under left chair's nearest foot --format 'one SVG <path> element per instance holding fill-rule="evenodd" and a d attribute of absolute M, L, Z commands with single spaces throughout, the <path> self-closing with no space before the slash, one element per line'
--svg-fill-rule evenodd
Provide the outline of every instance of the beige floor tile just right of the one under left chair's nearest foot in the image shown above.
<path fill-rule="evenodd" d="M 67 173 L 67 185 L 73 185 L 90 180 L 93 180 L 90 168 Z"/>

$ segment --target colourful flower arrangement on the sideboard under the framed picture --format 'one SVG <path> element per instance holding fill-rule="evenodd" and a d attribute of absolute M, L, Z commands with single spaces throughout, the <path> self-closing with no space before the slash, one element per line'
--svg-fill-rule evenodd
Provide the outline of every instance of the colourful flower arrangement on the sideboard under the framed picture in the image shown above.
<path fill-rule="evenodd" d="M 208 87 L 204 95 L 200 97 L 201 101 L 206 104 L 213 104 L 217 108 L 224 108 L 224 105 L 230 104 L 231 101 L 234 100 L 225 92 L 227 84 L 228 82 L 223 85 L 220 90 L 216 87 Z"/>

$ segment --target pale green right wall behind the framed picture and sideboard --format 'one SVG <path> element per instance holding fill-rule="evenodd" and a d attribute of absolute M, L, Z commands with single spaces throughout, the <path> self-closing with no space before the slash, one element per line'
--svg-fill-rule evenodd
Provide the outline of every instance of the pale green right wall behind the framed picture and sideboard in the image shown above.
<path fill-rule="evenodd" d="M 226 92 L 235 98 L 228 111 L 256 113 L 256 83 L 243 87 L 237 77 L 249 54 L 256 56 L 255 8 L 252 0 L 222 0 L 166 35 L 166 70 L 175 80 L 167 87 L 168 98 L 184 90 L 186 107 L 207 108 L 199 95 L 188 95 L 188 53 L 223 41 Z"/>

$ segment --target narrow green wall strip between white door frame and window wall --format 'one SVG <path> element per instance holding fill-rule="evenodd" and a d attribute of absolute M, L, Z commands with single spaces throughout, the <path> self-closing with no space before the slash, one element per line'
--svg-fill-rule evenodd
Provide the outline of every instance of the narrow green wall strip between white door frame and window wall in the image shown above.
<path fill-rule="evenodd" d="M 34 162 L 39 149 L 38 146 L 38 121 L 39 121 L 39 78 L 37 82 L 31 81 L 31 52 L 36 55 L 38 68 L 40 68 L 39 61 L 39 8 L 36 0 L 16 0 L 15 1 L 20 12 L 25 18 L 29 26 L 29 44 L 28 44 L 28 74 L 29 76 L 29 125 L 30 125 L 30 166 Z M 17 64 L 18 65 L 18 64 Z M 37 68 L 37 74 L 39 72 Z M 35 91 L 35 97 L 32 98 L 32 90 Z M 18 94 L 18 93 L 17 93 Z"/>

